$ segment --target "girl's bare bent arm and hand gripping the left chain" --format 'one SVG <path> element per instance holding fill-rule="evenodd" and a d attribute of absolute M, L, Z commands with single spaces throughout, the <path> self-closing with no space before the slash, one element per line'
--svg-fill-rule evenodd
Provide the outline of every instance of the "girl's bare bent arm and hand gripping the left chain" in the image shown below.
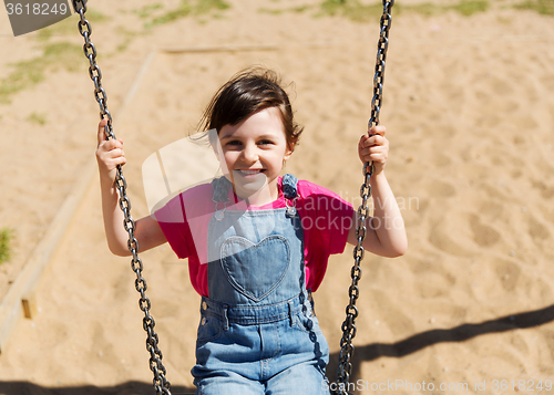
<path fill-rule="evenodd" d="M 99 124 L 96 160 L 100 173 L 100 188 L 102 191 L 102 212 L 104 218 L 104 230 L 110 251 L 120 257 L 131 256 L 127 248 L 129 233 L 123 227 L 123 212 L 119 205 L 119 191 L 115 188 L 116 166 L 126 163 L 123 153 L 123 141 L 106 141 L 104 125 L 106 119 Z M 141 251 L 160 246 L 165 239 L 160 225 L 152 217 L 144 217 L 135 221 L 134 236 L 138 241 Z"/>

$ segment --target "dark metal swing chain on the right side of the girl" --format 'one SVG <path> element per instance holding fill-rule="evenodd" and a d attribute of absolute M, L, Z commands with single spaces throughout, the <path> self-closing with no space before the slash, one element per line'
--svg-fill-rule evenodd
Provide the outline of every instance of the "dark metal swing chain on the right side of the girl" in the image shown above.
<path fill-rule="evenodd" d="M 389 48 L 389 29 L 391 24 L 391 8 L 394 1 L 383 0 L 383 13 L 381 17 L 381 31 L 379 35 L 378 50 L 377 50 L 377 62 L 376 72 L 373 76 L 373 98 L 371 100 L 371 117 L 369 119 L 368 127 L 379 125 L 379 113 L 381 111 L 382 102 L 382 85 L 384 81 L 384 60 L 387 58 L 387 49 Z M 363 165 L 365 179 L 360 188 L 361 205 L 358 208 L 358 228 L 356 230 L 357 245 L 353 248 L 353 267 L 350 272 L 352 278 L 352 283 L 348 289 L 348 294 L 350 301 L 346 308 L 346 320 L 342 322 L 342 339 L 340 340 L 340 354 L 339 354 L 339 368 L 337 372 L 336 387 L 334 388 L 334 394 L 336 395 L 348 395 L 350 374 L 352 371 L 352 364 L 350 363 L 350 357 L 353 354 L 352 339 L 356 336 L 356 319 L 358 318 L 358 308 L 356 306 L 356 301 L 360 294 L 358 288 L 358 282 L 361 278 L 360 262 L 363 259 L 363 247 L 362 242 L 366 238 L 366 219 L 369 217 L 368 200 L 371 197 L 371 185 L 369 180 L 373 174 L 373 166 L 369 162 Z"/>

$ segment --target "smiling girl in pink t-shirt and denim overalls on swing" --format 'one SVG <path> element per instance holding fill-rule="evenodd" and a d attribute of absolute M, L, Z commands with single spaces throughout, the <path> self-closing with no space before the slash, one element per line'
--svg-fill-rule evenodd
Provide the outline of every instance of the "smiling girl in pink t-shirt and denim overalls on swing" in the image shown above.
<path fill-rule="evenodd" d="M 104 139 L 105 122 L 96 150 L 104 227 L 110 250 L 129 256 L 114 186 L 116 165 L 125 164 L 123 142 Z M 356 243 L 356 211 L 322 187 L 279 177 L 302 128 L 274 72 L 236 74 L 215 94 L 203 125 L 224 176 L 179 194 L 135 225 L 142 251 L 170 242 L 188 259 L 202 295 L 196 394 L 329 394 L 322 385 L 329 347 L 311 291 L 329 256 Z M 363 248 L 398 257 L 407 237 L 383 171 L 388 152 L 382 126 L 358 144 L 361 162 L 375 166 L 375 216 L 367 220 Z"/>

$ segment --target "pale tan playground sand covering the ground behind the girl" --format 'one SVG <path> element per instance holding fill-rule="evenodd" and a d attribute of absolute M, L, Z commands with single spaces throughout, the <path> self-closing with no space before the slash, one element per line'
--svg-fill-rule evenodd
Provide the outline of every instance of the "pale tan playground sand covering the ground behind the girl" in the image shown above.
<path fill-rule="evenodd" d="M 286 170 L 358 205 L 356 146 L 369 117 L 378 18 L 360 23 L 316 18 L 315 9 L 260 10 L 296 4 L 285 0 L 229 3 L 217 18 L 146 29 L 133 12 L 144 11 L 146 1 L 90 2 L 91 9 L 117 13 L 93 25 L 92 41 L 115 133 L 125 142 L 133 217 L 148 214 L 142 164 L 193 131 L 213 92 L 250 64 L 294 82 L 289 91 L 306 128 Z M 40 56 L 47 43 L 82 44 L 76 31 L 58 31 L 48 41 L 37 33 L 12 38 L 1 18 L 0 79 L 14 63 Z M 386 173 L 410 247 L 401 258 L 363 260 L 357 393 L 540 393 L 540 385 L 548 393 L 553 21 L 496 3 L 471 17 L 406 9 L 393 17 L 381 123 L 390 141 Z M 13 258 L 0 266 L 0 294 L 37 253 L 82 169 L 94 164 L 93 84 L 84 56 L 73 64 L 76 72 L 58 65 L 43 82 L 0 104 L 0 226 L 14 229 Z M 186 262 L 168 246 L 142 253 L 142 260 L 167 377 L 174 393 L 193 392 L 199 298 Z M 332 257 L 315 294 L 331 377 L 351 263 L 350 247 Z M 0 394 L 151 393 L 134 274 L 127 258 L 107 251 L 98 176 L 35 297 L 39 313 L 18 323 L 0 355 Z"/>

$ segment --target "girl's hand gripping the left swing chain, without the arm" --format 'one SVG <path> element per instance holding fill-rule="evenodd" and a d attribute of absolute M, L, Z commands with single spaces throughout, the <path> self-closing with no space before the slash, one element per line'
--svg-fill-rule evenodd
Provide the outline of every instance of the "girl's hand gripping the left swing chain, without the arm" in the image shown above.
<path fill-rule="evenodd" d="M 123 141 L 105 139 L 104 126 L 107 119 L 104 118 L 99 124 L 96 162 L 99 163 L 100 178 L 111 184 L 115 181 L 117 165 L 124 165 L 127 160 L 123 153 Z"/>

